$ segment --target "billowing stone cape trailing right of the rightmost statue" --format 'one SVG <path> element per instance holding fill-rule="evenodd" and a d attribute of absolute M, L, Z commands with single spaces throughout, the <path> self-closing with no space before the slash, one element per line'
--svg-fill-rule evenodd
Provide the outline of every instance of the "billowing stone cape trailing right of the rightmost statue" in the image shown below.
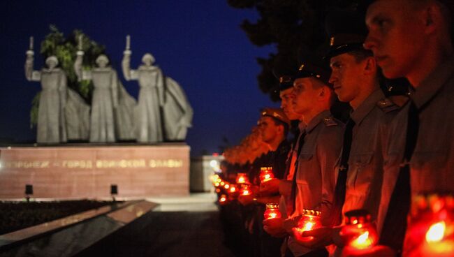
<path fill-rule="evenodd" d="M 163 105 L 166 139 L 182 141 L 186 139 L 188 128 L 192 126 L 193 110 L 186 94 L 178 83 L 166 77 L 166 103 Z"/>

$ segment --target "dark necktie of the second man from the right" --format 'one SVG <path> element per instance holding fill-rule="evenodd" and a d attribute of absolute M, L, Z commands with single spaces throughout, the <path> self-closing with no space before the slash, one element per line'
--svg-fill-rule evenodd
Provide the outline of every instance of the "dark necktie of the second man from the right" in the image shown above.
<path fill-rule="evenodd" d="M 353 119 L 350 118 L 346 123 L 344 131 L 344 143 L 342 145 L 340 168 L 339 173 L 337 174 L 334 200 L 332 202 L 332 209 L 329 217 L 330 226 L 337 226 L 340 221 L 342 221 L 342 207 L 345 202 L 347 171 L 349 170 L 349 157 L 354 126 L 355 122 L 353 122 Z"/>

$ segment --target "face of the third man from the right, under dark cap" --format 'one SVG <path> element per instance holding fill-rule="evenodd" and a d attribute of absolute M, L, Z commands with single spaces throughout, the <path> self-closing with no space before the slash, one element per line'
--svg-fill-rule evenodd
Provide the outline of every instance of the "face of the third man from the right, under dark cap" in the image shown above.
<path fill-rule="evenodd" d="M 292 105 L 298 115 L 307 114 L 316 104 L 321 88 L 315 89 L 312 80 L 315 79 L 298 78 L 293 82 Z"/>

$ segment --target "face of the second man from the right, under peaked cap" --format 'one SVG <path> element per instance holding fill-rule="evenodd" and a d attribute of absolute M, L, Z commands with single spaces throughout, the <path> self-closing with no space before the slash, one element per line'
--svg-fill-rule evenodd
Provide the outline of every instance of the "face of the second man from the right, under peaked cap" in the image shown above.
<path fill-rule="evenodd" d="M 357 61 L 349 54 L 339 54 L 330 59 L 330 83 L 333 85 L 337 97 L 342 102 L 350 102 L 361 91 L 360 76 L 363 74 L 365 61 Z"/>

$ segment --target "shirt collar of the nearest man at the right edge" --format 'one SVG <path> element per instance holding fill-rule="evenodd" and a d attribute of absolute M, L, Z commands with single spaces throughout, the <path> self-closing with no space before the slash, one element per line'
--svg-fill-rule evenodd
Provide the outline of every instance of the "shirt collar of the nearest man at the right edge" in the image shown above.
<path fill-rule="evenodd" d="M 451 56 L 448 60 L 440 64 L 430 75 L 421 82 L 419 87 L 410 94 L 411 99 L 418 108 L 427 103 L 434 94 L 441 89 L 445 82 L 453 76 L 454 58 Z"/>

